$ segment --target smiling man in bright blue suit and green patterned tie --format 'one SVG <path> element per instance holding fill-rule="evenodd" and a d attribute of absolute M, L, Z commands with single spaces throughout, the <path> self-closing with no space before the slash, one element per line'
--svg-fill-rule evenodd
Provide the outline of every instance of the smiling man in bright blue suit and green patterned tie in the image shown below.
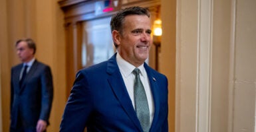
<path fill-rule="evenodd" d="M 168 80 L 144 62 L 152 45 L 148 10 L 123 9 L 110 26 L 117 53 L 77 73 L 60 131 L 168 131 Z"/>

